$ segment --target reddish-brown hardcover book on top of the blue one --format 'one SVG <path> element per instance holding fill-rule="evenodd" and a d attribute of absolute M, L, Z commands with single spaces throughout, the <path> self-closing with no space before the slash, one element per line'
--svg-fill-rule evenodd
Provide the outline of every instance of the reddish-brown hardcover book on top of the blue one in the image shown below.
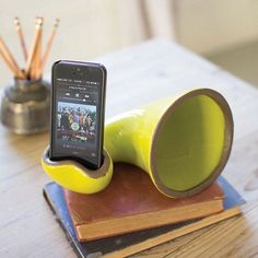
<path fill-rule="evenodd" d="M 63 189 L 79 241 L 91 241 L 203 218 L 223 210 L 223 190 L 214 183 L 199 195 L 172 199 L 157 191 L 140 168 L 116 164 L 112 183 L 94 195 Z"/>

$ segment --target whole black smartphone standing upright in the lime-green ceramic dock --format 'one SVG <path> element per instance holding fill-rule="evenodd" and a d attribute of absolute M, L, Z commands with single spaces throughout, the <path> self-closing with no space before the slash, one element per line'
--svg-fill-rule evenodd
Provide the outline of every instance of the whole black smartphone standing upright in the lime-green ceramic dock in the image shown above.
<path fill-rule="evenodd" d="M 52 64 L 51 81 L 49 157 L 98 168 L 103 161 L 105 67 L 60 60 Z"/>

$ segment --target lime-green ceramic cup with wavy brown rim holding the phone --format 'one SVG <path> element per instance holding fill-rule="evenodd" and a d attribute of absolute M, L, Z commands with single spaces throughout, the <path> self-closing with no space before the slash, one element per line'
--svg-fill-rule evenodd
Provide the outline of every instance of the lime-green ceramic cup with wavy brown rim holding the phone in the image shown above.
<path fill-rule="evenodd" d="M 49 148 L 42 157 L 42 166 L 50 178 L 59 185 L 81 194 L 94 194 L 103 190 L 113 176 L 113 162 L 104 150 L 104 162 L 98 169 L 90 169 L 77 161 L 51 161 Z"/>

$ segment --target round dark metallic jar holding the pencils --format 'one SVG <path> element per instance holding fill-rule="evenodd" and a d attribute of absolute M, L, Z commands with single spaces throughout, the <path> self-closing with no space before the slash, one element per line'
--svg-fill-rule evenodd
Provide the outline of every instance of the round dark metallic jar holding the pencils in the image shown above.
<path fill-rule="evenodd" d="M 30 134 L 48 129 L 50 84 L 46 81 L 14 79 L 1 98 L 1 122 L 12 132 Z"/>

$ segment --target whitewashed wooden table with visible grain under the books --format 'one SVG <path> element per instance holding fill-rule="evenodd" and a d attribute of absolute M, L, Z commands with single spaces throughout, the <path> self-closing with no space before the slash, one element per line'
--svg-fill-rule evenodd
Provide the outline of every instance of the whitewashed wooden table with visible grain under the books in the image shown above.
<path fill-rule="evenodd" d="M 196 87 L 221 92 L 234 115 L 235 140 L 224 176 L 248 201 L 244 215 L 137 256 L 258 256 L 258 91 L 166 40 L 146 42 L 96 61 L 108 70 L 107 118 Z M 21 137 L 0 126 L 0 257 L 75 257 L 42 195 L 49 181 L 39 163 L 48 133 Z"/>

